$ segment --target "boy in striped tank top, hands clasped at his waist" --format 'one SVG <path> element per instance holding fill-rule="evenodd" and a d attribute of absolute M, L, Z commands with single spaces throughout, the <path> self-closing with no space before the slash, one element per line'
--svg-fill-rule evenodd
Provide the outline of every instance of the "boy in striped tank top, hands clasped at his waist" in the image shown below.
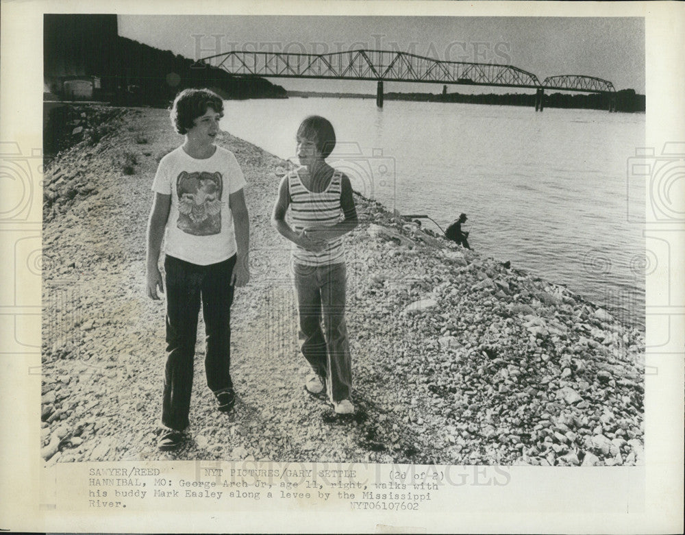
<path fill-rule="evenodd" d="M 283 178 L 271 221 L 292 242 L 300 348 L 312 366 L 305 388 L 314 395 L 325 389 L 336 413 L 351 414 L 343 235 L 358 221 L 349 178 L 325 162 L 335 144 L 329 121 L 315 115 L 302 121 L 297 130 L 301 167 Z M 286 222 L 288 208 L 292 227 Z"/>

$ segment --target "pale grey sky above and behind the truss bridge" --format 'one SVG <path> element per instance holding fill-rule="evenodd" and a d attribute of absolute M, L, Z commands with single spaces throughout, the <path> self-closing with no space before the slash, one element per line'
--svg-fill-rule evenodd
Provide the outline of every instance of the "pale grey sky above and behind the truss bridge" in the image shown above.
<path fill-rule="evenodd" d="M 497 63 L 535 74 L 588 75 L 645 92 L 642 18 L 453 16 L 119 16 L 119 35 L 197 60 L 231 50 L 326 53 L 405 51 Z M 288 90 L 375 93 L 375 82 L 272 78 Z M 440 92 L 438 84 L 386 82 L 384 90 Z M 449 92 L 497 92 L 449 86 Z M 500 92 L 516 92 L 506 88 Z"/>

